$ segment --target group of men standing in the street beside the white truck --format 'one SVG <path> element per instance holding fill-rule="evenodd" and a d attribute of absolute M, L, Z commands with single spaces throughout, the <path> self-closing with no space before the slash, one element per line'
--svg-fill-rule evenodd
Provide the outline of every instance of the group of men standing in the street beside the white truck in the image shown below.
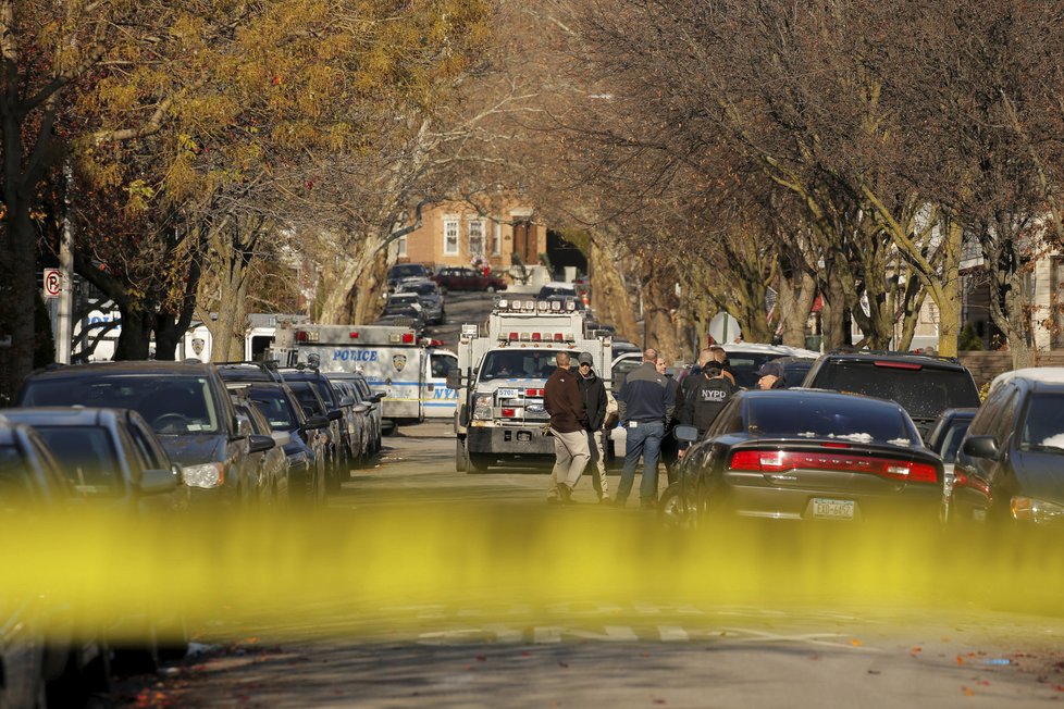
<path fill-rule="evenodd" d="M 635 482 L 635 469 L 643 459 L 640 508 L 657 509 L 658 463 L 665 462 L 669 482 L 675 463 L 683 455 L 675 436 L 667 435 L 677 424 L 706 433 L 717 413 L 737 390 L 729 371 L 727 353 L 710 347 L 698 353 L 698 362 L 681 382 L 667 374 L 667 362 L 655 349 L 643 351 L 643 363 L 628 373 L 616 399 L 594 370 L 590 352 L 577 357 L 571 370 L 569 352 L 558 352 L 557 369 L 547 380 L 544 406 L 550 414 L 555 464 L 550 473 L 548 502 L 569 503 L 572 490 L 589 463 L 593 463 L 592 484 L 598 501 L 623 507 Z M 757 371 L 758 388 L 783 385 L 782 369 L 767 362 Z M 624 468 L 616 496 L 611 499 L 606 482 L 605 432 L 617 423 L 626 431 Z"/>

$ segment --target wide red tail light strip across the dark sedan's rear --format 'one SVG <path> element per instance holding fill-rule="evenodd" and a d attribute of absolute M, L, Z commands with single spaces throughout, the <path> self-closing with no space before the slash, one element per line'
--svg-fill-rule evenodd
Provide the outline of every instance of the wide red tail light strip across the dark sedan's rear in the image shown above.
<path fill-rule="evenodd" d="M 815 450 L 738 450 L 732 455 L 729 468 L 763 473 L 779 473 L 799 469 L 832 470 L 869 473 L 907 483 L 936 484 L 939 481 L 938 469 L 930 463 Z"/>

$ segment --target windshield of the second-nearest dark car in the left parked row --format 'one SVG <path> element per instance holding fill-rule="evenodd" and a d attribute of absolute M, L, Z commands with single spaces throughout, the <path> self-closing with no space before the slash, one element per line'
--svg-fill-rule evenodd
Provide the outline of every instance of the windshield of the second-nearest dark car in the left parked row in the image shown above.
<path fill-rule="evenodd" d="M 74 489 L 86 495 L 117 495 L 122 473 L 106 428 L 99 426 L 36 426 L 48 450 Z"/>

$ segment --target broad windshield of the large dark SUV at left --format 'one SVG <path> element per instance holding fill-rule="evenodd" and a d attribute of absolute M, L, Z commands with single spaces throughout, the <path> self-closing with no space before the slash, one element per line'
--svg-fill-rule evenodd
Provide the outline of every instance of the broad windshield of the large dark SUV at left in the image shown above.
<path fill-rule="evenodd" d="M 108 374 L 29 380 L 21 403 L 27 407 L 133 409 L 158 434 L 216 434 L 220 412 L 206 376 Z"/>

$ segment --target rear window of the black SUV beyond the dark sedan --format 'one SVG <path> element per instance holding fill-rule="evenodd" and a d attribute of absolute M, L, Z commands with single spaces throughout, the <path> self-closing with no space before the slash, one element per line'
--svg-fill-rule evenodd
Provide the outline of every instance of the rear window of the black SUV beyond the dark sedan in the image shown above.
<path fill-rule="evenodd" d="M 837 362 L 820 369 L 815 386 L 891 399 L 914 419 L 935 419 L 947 409 L 979 406 L 979 391 L 967 372 L 925 366 L 920 370 Z"/>

